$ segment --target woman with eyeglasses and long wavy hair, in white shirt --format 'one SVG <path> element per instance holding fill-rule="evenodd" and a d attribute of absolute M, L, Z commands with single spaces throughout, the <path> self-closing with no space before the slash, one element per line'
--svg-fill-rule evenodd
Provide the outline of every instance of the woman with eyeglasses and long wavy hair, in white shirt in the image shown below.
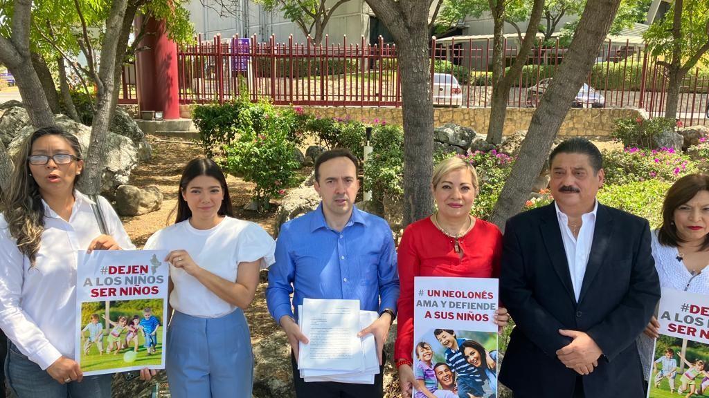
<path fill-rule="evenodd" d="M 78 250 L 135 249 L 104 198 L 101 234 L 76 190 L 84 161 L 74 135 L 33 132 L 18 152 L 0 216 L 0 327 L 10 343 L 9 387 L 19 398 L 111 397 L 111 375 L 82 375 L 74 360 Z"/>

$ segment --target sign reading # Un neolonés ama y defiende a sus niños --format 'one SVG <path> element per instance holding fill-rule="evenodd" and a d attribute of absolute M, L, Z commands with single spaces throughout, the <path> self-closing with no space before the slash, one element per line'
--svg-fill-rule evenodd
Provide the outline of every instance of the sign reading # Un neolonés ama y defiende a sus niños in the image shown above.
<path fill-rule="evenodd" d="M 415 398 L 497 396 L 498 280 L 414 279 Z M 425 391 L 423 391 L 425 390 Z"/>

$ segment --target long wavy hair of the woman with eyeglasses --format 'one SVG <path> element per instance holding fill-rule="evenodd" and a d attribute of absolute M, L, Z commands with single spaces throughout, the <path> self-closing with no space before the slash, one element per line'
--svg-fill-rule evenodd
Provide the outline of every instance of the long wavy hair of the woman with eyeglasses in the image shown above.
<path fill-rule="evenodd" d="M 24 140 L 15 156 L 15 169 L 10 177 L 10 188 L 3 192 L 2 202 L 5 206 L 4 215 L 10 235 L 16 239 L 17 249 L 29 258 L 31 267 L 35 266 L 37 253 L 40 250 L 45 212 L 42 195 L 35 178 L 30 173 L 27 157 L 32 152 L 32 144 L 45 135 L 58 135 L 64 138 L 69 143 L 69 147 L 72 147 L 74 156 L 78 160 L 82 159 L 82 148 L 77 137 L 55 126 L 35 130 Z M 80 176 L 74 176 L 74 186 L 79 178 Z"/>

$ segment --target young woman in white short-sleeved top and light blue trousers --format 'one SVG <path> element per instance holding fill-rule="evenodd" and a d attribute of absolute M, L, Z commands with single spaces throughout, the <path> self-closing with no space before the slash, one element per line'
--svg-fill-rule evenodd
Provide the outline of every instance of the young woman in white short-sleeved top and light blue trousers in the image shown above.
<path fill-rule="evenodd" d="M 174 398 L 251 397 L 253 357 L 243 310 L 259 270 L 274 262 L 274 240 L 233 218 L 224 174 L 211 159 L 187 164 L 175 223 L 145 249 L 167 249 L 174 314 L 167 328 L 167 381 Z"/>

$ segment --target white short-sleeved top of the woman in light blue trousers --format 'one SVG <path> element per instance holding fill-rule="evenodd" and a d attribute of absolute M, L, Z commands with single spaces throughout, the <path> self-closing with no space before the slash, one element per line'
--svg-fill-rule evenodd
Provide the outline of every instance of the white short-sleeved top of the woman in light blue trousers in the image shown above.
<path fill-rule="evenodd" d="M 274 263 L 276 242 L 258 224 L 224 217 L 211 229 L 195 229 L 189 220 L 170 225 L 147 239 L 144 249 L 185 250 L 201 268 L 235 281 L 241 262 L 262 258 L 261 268 Z M 171 265 L 170 278 L 174 288 L 169 300 L 176 311 L 193 317 L 218 318 L 236 309 L 180 268 Z"/>

